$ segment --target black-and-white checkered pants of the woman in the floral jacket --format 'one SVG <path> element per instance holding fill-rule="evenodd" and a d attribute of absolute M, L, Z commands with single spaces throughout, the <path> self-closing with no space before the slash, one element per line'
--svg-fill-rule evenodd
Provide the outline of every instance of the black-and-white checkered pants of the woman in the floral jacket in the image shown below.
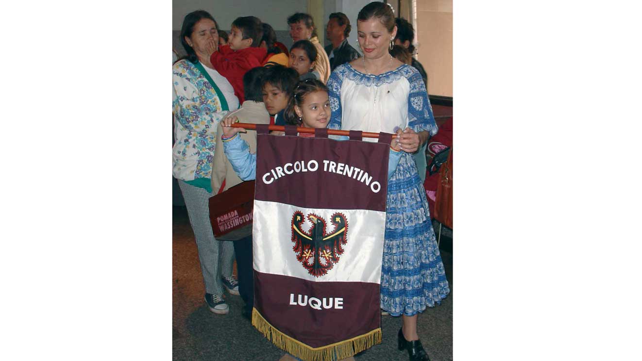
<path fill-rule="evenodd" d="M 234 244 L 229 240 L 214 239 L 209 221 L 209 198 L 214 194 L 182 180 L 178 180 L 178 187 L 185 198 L 189 223 L 196 238 L 205 292 L 223 296 L 221 276 L 232 276 Z"/>

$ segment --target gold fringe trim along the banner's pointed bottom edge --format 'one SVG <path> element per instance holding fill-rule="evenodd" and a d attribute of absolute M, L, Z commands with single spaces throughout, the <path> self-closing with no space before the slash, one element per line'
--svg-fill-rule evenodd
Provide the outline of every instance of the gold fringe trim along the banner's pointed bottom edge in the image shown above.
<path fill-rule="evenodd" d="M 343 358 L 354 356 L 364 349 L 381 343 L 381 328 L 377 328 L 365 335 L 336 342 L 328 346 L 313 348 L 274 328 L 272 324 L 265 321 L 256 308 L 252 309 L 252 326 L 263 333 L 263 336 L 271 340 L 278 348 L 306 361 L 333 361 L 334 353 L 336 353 L 336 360 L 343 360 Z"/>

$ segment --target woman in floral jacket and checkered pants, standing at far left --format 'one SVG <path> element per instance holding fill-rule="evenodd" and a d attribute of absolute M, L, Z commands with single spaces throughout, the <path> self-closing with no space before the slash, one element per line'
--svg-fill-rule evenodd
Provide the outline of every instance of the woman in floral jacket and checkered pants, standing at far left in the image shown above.
<path fill-rule="evenodd" d="M 239 294 L 232 277 L 234 248 L 230 241 L 214 239 L 209 221 L 212 161 L 216 125 L 239 101 L 229 81 L 213 69 L 210 55 L 218 49 L 218 26 L 212 15 L 202 10 L 186 15 L 180 41 L 187 58 L 172 68 L 173 113 L 175 118 L 173 175 L 187 205 L 194 230 L 198 258 L 205 282 L 205 302 L 216 314 L 227 314 L 223 287 Z M 222 264 L 220 265 L 219 262 Z"/>

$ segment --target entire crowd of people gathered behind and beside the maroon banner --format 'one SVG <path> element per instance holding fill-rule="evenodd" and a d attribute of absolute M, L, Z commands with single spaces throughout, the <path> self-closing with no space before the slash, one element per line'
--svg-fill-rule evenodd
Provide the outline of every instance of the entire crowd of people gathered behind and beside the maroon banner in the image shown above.
<path fill-rule="evenodd" d="M 287 23 L 289 50 L 254 16 L 235 19 L 229 35 L 203 10 L 182 24 L 187 56 L 173 65 L 173 176 L 195 234 L 205 303 L 227 314 L 227 290 L 245 302 L 244 317 L 254 305 L 252 236 L 217 240 L 209 220 L 210 197 L 254 178 L 256 132 L 239 133 L 232 123 L 397 133 L 388 165 L 381 310 L 403 318 L 399 349 L 411 361 L 428 360 L 417 317 L 450 290 L 422 185 L 425 156 L 423 166 L 415 160 L 437 125 L 426 72 L 412 57 L 412 24 L 395 19 L 385 3 L 367 4 L 356 19 L 361 56 L 347 42 L 351 24 L 343 13 L 329 16 L 325 48 L 311 15 L 295 13 Z"/>

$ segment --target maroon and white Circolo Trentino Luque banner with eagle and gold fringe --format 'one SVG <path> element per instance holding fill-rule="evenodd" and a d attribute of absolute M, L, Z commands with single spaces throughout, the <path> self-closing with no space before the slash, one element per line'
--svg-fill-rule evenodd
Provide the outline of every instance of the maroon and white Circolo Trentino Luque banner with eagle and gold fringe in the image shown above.
<path fill-rule="evenodd" d="M 390 135 L 377 143 L 327 139 L 327 130 L 257 133 L 252 324 L 306 361 L 381 343 Z"/>

